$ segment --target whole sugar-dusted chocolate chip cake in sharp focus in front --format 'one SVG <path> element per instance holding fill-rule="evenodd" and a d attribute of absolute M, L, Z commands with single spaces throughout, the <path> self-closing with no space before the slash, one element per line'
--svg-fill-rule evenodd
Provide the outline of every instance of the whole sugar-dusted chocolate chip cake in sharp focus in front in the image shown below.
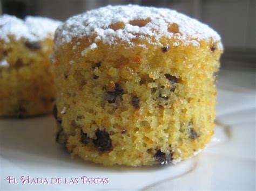
<path fill-rule="evenodd" d="M 104 165 L 176 164 L 211 139 L 221 39 L 170 9 L 106 6 L 55 34 L 57 141 Z"/>

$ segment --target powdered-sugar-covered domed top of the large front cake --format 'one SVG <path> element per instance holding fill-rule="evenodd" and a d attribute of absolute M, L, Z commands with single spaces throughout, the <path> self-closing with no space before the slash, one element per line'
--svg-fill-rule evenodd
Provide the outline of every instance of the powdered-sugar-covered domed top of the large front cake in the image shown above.
<path fill-rule="evenodd" d="M 100 40 L 109 45 L 121 41 L 134 46 L 132 39 L 135 38 L 161 45 L 163 36 L 174 36 L 177 41 L 195 46 L 200 46 L 200 40 L 212 40 L 223 48 L 219 34 L 196 19 L 170 9 L 131 4 L 108 5 L 69 18 L 56 30 L 55 48 L 70 43 L 72 38 L 84 37 L 95 37 L 92 43 Z"/>

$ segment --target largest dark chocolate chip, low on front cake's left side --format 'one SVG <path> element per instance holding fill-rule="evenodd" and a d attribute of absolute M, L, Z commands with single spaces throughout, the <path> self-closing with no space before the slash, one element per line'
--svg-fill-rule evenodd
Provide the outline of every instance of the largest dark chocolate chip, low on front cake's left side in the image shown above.
<path fill-rule="evenodd" d="M 109 151 L 112 147 L 112 140 L 110 139 L 109 133 L 106 130 L 97 130 L 96 139 L 93 139 L 93 143 L 99 151 Z"/>

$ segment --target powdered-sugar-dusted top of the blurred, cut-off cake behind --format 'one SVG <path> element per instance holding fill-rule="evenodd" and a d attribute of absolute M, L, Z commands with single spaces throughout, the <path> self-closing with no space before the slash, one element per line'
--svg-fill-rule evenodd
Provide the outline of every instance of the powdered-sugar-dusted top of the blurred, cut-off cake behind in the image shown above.
<path fill-rule="evenodd" d="M 0 39 L 10 41 L 10 35 L 16 40 L 25 38 L 29 41 L 39 41 L 52 37 L 62 22 L 45 17 L 27 16 L 24 20 L 15 16 L 0 16 Z"/>

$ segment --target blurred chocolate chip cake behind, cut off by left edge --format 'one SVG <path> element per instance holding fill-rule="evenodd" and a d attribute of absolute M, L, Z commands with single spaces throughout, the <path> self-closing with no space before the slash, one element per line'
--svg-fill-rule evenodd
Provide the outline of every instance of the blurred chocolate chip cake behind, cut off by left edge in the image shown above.
<path fill-rule="evenodd" d="M 60 22 L 43 17 L 0 16 L 0 116 L 52 111 L 55 98 L 49 55 Z"/>

